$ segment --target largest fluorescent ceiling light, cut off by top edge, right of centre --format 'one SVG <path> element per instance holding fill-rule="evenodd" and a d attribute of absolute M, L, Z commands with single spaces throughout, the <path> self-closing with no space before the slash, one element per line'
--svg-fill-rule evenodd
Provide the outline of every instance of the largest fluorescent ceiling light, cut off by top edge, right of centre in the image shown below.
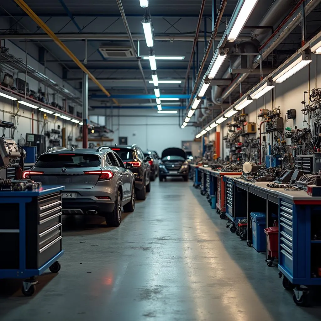
<path fill-rule="evenodd" d="M 239 1 L 235 11 L 237 16 L 232 14 L 230 23 L 227 28 L 227 40 L 235 41 L 242 31 L 247 19 L 251 15 L 258 0 Z"/>

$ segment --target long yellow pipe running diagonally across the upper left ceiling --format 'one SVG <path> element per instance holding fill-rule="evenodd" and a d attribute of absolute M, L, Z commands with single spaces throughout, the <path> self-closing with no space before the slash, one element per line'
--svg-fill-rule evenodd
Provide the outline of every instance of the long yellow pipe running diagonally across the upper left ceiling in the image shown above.
<path fill-rule="evenodd" d="M 91 74 L 91 72 L 79 61 L 79 59 L 64 45 L 64 43 L 52 32 L 49 27 L 34 13 L 31 8 L 22 0 L 14 0 L 16 4 L 18 4 L 22 10 L 29 15 L 29 17 L 38 24 L 40 28 L 42 28 L 49 37 L 56 42 L 56 44 L 64 50 L 64 52 L 74 60 L 76 65 L 88 75 L 88 77 L 102 90 L 104 94 L 110 97 L 110 93 L 103 87 L 103 85 Z M 113 102 L 119 106 L 118 101 L 112 98 Z"/>

